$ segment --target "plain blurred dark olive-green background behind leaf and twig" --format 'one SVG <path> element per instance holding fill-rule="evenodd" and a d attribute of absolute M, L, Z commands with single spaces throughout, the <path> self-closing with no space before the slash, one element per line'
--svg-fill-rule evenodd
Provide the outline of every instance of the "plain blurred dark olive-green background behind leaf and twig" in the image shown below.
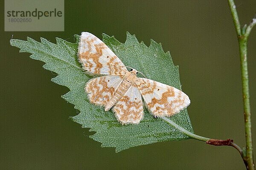
<path fill-rule="evenodd" d="M 22 40 L 29 36 L 55 42 L 55 37 L 61 37 L 74 42 L 73 34 L 81 31 L 100 38 L 102 33 L 114 35 L 120 42 L 129 31 L 146 45 L 150 39 L 161 42 L 180 66 L 182 88 L 191 99 L 188 112 L 195 133 L 234 139 L 244 146 L 239 50 L 227 1 L 66 0 L 64 32 L 4 32 L 3 0 L 0 3 L 1 169 L 245 169 L 234 148 L 193 139 L 149 144 L 121 153 L 101 148 L 88 137 L 93 133 L 68 119 L 77 111 L 61 98 L 68 88 L 50 81 L 55 73 L 9 45 L 12 34 Z M 256 1 L 235 3 L 241 23 L 249 23 Z M 248 40 L 248 69 L 256 142 L 256 28 Z"/>

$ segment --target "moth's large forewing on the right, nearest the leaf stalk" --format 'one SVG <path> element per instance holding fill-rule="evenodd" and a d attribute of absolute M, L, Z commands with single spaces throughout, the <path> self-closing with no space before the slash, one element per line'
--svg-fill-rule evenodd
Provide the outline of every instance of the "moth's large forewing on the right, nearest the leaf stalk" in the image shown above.
<path fill-rule="evenodd" d="M 172 86 L 137 78 L 137 87 L 149 111 L 156 117 L 172 116 L 190 104 L 189 96 Z"/>

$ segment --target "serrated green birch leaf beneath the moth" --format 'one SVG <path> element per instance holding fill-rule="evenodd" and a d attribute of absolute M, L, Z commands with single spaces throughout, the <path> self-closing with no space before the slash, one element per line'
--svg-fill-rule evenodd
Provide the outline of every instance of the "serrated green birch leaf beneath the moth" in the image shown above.
<path fill-rule="evenodd" d="M 52 81 L 70 89 L 62 97 L 80 111 L 71 119 L 81 124 L 83 128 L 95 131 L 96 133 L 90 138 L 101 142 L 102 147 L 116 147 L 116 152 L 119 152 L 155 142 L 189 139 L 163 119 L 154 118 L 146 109 L 144 109 L 144 119 L 139 125 L 121 125 L 111 111 L 105 112 L 103 108 L 90 104 L 84 92 L 84 85 L 90 77 L 84 74 L 77 60 L 79 36 L 75 35 L 75 37 L 76 43 L 60 38 L 56 38 L 56 44 L 44 38 L 41 38 L 41 42 L 37 42 L 29 37 L 27 41 L 12 39 L 10 43 L 20 48 L 20 52 L 31 53 L 32 59 L 45 62 L 43 65 L 45 69 L 58 74 L 57 77 L 52 78 Z M 125 43 L 106 34 L 103 34 L 103 42 L 126 66 L 143 72 L 148 79 L 181 89 L 178 66 L 173 64 L 170 53 L 165 53 L 161 44 L 151 40 L 150 46 L 147 47 L 143 42 L 138 42 L 135 35 L 128 32 Z M 186 109 L 169 119 L 193 133 Z"/>

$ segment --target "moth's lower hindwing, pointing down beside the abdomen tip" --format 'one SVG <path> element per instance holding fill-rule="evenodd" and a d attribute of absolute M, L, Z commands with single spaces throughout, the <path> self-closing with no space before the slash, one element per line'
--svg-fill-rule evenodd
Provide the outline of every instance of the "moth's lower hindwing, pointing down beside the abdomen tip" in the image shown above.
<path fill-rule="evenodd" d="M 116 119 L 122 124 L 138 124 L 143 119 L 141 94 L 135 86 L 131 86 L 113 108 Z"/>

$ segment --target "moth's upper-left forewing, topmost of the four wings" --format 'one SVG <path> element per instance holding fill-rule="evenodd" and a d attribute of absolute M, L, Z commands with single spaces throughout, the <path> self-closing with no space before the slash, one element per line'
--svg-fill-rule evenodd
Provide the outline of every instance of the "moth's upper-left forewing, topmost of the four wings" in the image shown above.
<path fill-rule="evenodd" d="M 116 54 L 89 32 L 81 33 L 78 57 L 84 70 L 90 74 L 125 75 L 128 72 Z"/>

